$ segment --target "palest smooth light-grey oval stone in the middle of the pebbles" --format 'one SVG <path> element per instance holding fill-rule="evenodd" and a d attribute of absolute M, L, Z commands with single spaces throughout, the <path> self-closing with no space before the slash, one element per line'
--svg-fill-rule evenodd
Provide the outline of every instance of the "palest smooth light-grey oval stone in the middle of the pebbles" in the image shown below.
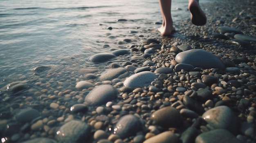
<path fill-rule="evenodd" d="M 124 81 L 124 86 L 128 86 L 131 88 L 148 86 L 155 79 L 157 79 L 157 76 L 154 73 L 150 71 L 143 71 L 128 77 Z"/>

